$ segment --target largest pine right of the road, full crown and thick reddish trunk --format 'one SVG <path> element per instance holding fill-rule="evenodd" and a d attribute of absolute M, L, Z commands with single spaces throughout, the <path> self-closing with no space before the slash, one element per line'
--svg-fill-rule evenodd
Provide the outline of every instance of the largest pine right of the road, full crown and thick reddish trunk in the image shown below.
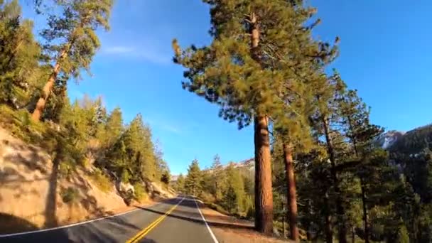
<path fill-rule="evenodd" d="M 188 70 L 183 87 L 220 105 L 220 117 L 237 121 L 239 128 L 254 121 L 255 144 L 255 225 L 271 234 L 273 200 L 269 117 L 284 108 L 281 90 L 286 77 L 281 72 L 298 70 L 296 54 L 319 56 L 303 24 L 313 14 L 292 1 L 214 1 L 210 5 L 212 44 L 180 50 L 173 41 L 175 63 Z M 306 53 L 306 54 L 305 54 Z M 295 57 L 295 58 L 293 58 Z M 283 65 L 275 68 L 275 65 Z M 286 68 L 285 68 L 286 67 Z"/>

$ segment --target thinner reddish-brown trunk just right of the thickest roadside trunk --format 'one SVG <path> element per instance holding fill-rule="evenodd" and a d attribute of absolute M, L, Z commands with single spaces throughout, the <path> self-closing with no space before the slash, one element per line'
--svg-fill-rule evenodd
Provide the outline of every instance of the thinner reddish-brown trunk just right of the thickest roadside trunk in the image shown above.
<path fill-rule="evenodd" d="M 296 195 L 296 178 L 294 177 L 294 164 L 293 164 L 293 148 L 284 143 L 284 161 L 286 183 L 288 188 L 288 218 L 289 218 L 289 232 L 290 239 L 298 242 L 298 229 L 297 229 L 297 195 Z"/>

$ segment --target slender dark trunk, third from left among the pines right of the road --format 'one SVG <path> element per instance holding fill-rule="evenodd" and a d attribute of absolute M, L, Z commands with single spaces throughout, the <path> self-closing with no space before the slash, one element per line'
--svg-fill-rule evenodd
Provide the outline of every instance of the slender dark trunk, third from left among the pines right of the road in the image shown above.
<path fill-rule="evenodd" d="M 335 163 L 335 149 L 333 147 L 333 140 L 330 136 L 330 129 L 328 127 L 328 119 L 323 116 L 323 127 L 325 133 L 325 141 L 327 142 L 327 150 L 330 157 L 330 173 L 333 180 L 333 187 L 335 188 L 336 196 L 336 213 L 338 214 L 338 239 L 340 243 L 347 243 L 347 226 L 345 224 L 345 210 L 342 205 L 342 197 L 340 195 L 339 180 L 336 172 Z"/>

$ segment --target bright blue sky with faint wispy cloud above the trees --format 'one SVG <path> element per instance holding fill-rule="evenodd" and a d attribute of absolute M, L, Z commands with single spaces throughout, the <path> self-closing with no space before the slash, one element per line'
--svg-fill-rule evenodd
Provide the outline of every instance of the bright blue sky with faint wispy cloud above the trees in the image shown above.
<path fill-rule="evenodd" d="M 215 153 L 223 163 L 251 158 L 252 129 L 238 131 L 217 117 L 215 105 L 182 90 L 182 69 L 171 62 L 173 38 L 183 46 L 210 43 L 207 6 L 200 0 L 116 2 L 112 30 L 100 34 L 93 77 L 71 84 L 70 96 L 102 95 L 108 109 L 121 107 L 125 121 L 141 112 L 173 174 L 185 173 L 193 158 L 210 166 Z M 315 36 L 340 36 L 333 67 L 372 107 L 374 123 L 403 131 L 431 123 L 432 1 L 311 4 L 322 18 Z"/>

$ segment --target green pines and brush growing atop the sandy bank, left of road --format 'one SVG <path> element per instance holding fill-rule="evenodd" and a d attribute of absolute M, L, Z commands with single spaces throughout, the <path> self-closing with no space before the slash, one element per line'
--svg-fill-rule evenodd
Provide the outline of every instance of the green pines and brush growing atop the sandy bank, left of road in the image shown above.
<path fill-rule="evenodd" d="M 121 108 L 107 111 L 101 97 L 70 101 L 68 96 L 68 82 L 90 73 L 101 45 L 96 31 L 109 29 L 112 4 L 31 1 L 46 18 L 41 32 L 33 33 L 18 1 L 0 1 L 0 122 L 14 136 L 45 149 L 60 177 L 85 168 L 105 191 L 112 183 L 133 186 L 134 193 L 121 192 L 129 203 L 146 198 L 144 182 L 167 187 L 170 180 L 150 126 L 141 114 L 126 123 Z"/>

